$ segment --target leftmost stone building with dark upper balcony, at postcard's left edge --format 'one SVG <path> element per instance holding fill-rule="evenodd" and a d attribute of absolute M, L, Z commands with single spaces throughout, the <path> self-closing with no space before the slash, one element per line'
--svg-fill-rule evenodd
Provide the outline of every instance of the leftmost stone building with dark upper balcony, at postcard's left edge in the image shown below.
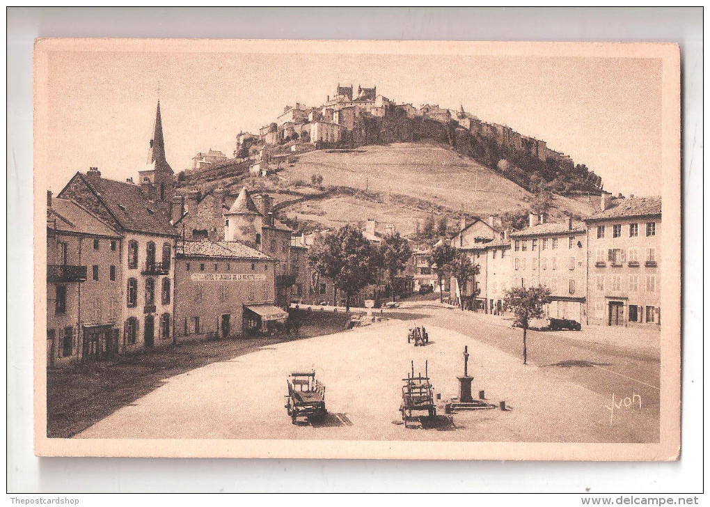
<path fill-rule="evenodd" d="M 115 229 L 47 195 L 47 366 L 118 354 L 121 252 Z"/>

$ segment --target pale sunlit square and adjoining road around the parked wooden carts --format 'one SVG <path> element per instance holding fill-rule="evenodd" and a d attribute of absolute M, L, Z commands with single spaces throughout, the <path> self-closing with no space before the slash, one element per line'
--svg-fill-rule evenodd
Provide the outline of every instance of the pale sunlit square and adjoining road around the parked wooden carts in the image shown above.
<path fill-rule="evenodd" d="M 415 312 L 419 312 L 415 315 Z M 436 305 L 390 312 L 391 320 L 327 336 L 273 344 L 229 361 L 166 378 L 163 386 L 89 427 L 83 438 L 228 438 L 293 440 L 452 440 L 469 442 L 657 442 L 657 362 L 633 347 L 530 334 L 530 364 L 520 359 L 520 329 Z M 427 347 L 408 344 L 427 326 Z M 584 333 L 584 332 L 582 332 Z M 451 427 L 408 430 L 400 423 L 401 379 L 428 361 L 435 392 L 456 396 L 464 345 L 474 393 L 513 410 L 453 416 Z M 638 356 L 638 357 L 637 357 Z M 594 366 L 546 366 L 587 361 Z M 586 364 L 582 362 L 569 364 Z M 322 424 L 292 425 L 284 403 L 290 371 L 317 371 L 327 386 Z M 636 380 L 630 380 L 631 377 Z M 638 384 L 638 386 L 636 385 Z M 642 388 L 644 390 L 642 390 Z M 611 420 L 611 395 L 641 397 Z M 616 398 L 615 398 L 616 399 Z M 636 398 L 633 398 L 636 400 Z M 617 402 L 618 403 L 618 400 Z M 443 413 L 439 407 L 440 413 Z"/>

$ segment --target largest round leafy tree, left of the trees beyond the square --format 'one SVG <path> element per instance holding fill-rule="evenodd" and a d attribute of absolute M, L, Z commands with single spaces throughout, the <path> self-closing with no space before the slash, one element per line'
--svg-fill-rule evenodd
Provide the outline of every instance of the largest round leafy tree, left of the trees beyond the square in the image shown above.
<path fill-rule="evenodd" d="M 374 281 L 372 258 L 370 242 L 350 224 L 317 242 L 310 252 L 315 271 L 332 278 L 335 288 L 346 294 L 346 311 L 350 310 L 351 296 Z"/>

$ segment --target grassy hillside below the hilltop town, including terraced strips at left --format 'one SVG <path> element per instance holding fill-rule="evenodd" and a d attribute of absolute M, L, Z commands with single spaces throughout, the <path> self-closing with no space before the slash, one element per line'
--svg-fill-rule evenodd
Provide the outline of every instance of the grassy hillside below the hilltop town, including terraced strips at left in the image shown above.
<path fill-rule="evenodd" d="M 447 217 L 449 230 L 462 217 L 525 213 L 535 196 L 502 175 L 463 156 L 446 144 L 392 143 L 351 151 L 302 153 L 268 178 L 250 176 L 247 163 L 225 165 L 190 176 L 181 187 L 206 192 L 224 187 L 230 194 L 246 185 L 275 198 L 280 217 L 290 224 L 340 227 L 376 219 L 410 234 L 430 214 Z M 311 185 L 312 175 L 322 175 Z M 596 200 L 595 200 L 596 201 Z M 553 195 L 549 219 L 592 211 L 584 198 Z"/>

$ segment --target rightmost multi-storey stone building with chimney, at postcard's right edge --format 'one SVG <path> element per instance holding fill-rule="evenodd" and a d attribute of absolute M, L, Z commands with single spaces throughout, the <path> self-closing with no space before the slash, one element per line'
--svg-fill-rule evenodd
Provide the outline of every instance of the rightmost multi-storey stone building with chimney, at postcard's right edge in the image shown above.
<path fill-rule="evenodd" d="M 661 199 L 611 200 L 585 220 L 589 242 L 589 323 L 660 325 Z"/>

